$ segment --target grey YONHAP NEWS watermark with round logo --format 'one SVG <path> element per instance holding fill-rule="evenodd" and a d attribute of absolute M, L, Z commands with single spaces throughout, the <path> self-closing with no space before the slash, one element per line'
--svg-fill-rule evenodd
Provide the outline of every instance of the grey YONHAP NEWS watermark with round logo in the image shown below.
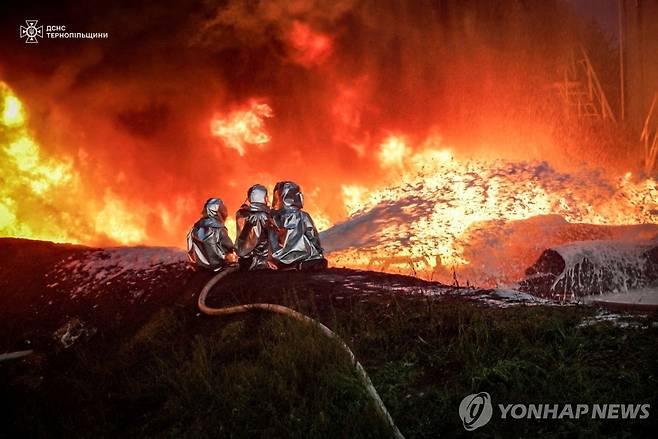
<path fill-rule="evenodd" d="M 494 409 L 497 408 L 497 410 Z M 459 417 L 464 429 L 473 431 L 483 427 L 492 418 L 503 420 L 544 419 L 573 420 L 591 419 L 648 419 L 650 404 L 493 404 L 487 392 L 467 395 L 459 404 Z"/>

